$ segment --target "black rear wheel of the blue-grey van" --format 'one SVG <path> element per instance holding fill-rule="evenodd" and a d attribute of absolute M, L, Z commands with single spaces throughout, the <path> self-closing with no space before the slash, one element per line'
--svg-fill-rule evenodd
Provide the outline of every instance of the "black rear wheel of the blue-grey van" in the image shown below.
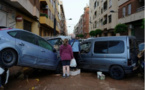
<path fill-rule="evenodd" d="M 110 75 L 112 78 L 120 80 L 123 79 L 125 76 L 124 70 L 120 66 L 112 66 L 110 68 Z"/>

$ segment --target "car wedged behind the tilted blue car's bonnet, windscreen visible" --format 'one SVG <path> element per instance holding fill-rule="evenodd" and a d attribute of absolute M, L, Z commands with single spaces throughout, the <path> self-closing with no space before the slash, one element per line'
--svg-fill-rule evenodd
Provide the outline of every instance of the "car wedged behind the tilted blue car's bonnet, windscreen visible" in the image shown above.
<path fill-rule="evenodd" d="M 43 37 L 47 40 L 57 51 L 59 51 L 60 45 L 63 44 L 63 40 L 67 38 L 68 40 L 71 39 L 70 36 L 56 36 L 56 37 Z"/>

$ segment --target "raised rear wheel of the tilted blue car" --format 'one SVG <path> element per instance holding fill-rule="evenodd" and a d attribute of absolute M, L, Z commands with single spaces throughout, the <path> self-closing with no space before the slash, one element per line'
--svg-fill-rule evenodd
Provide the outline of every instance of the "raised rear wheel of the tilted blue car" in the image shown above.
<path fill-rule="evenodd" d="M 0 64 L 2 67 L 9 68 L 16 63 L 17 55 L 12 49 L 5 49 L 0 52 Z"/>

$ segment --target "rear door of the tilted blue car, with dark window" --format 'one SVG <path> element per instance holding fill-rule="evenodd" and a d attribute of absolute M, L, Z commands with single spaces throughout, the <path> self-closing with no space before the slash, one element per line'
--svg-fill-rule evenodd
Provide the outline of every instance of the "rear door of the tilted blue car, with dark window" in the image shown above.
<path fill-rule="evenodd" d="M 36 67 L 40 50 L 36 45 L 36 35 L 19 31 L 16 36 L 16 46 L 19 48 L 18 65 Z"/>

